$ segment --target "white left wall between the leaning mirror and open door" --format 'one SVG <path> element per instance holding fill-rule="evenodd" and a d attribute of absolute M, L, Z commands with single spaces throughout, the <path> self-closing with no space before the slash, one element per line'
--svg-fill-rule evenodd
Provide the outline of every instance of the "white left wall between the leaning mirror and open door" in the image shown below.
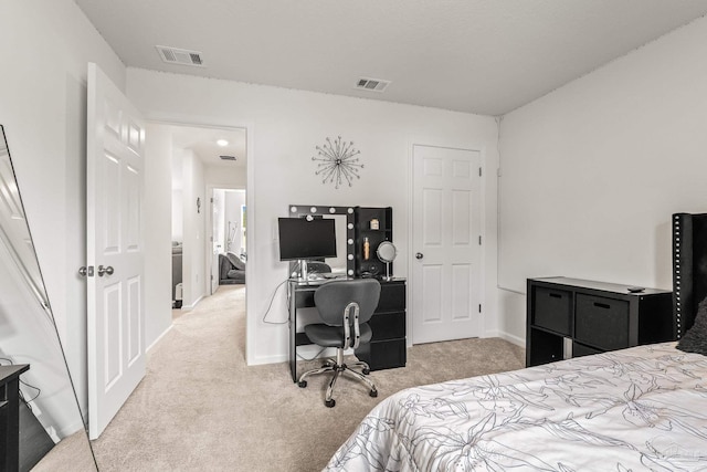
<path fill-rule="evenodd" d="M 0 123 L 85 408 L 86 64 L 120 88 L 125 66 L 71 0 L 0 2 Z"/>

